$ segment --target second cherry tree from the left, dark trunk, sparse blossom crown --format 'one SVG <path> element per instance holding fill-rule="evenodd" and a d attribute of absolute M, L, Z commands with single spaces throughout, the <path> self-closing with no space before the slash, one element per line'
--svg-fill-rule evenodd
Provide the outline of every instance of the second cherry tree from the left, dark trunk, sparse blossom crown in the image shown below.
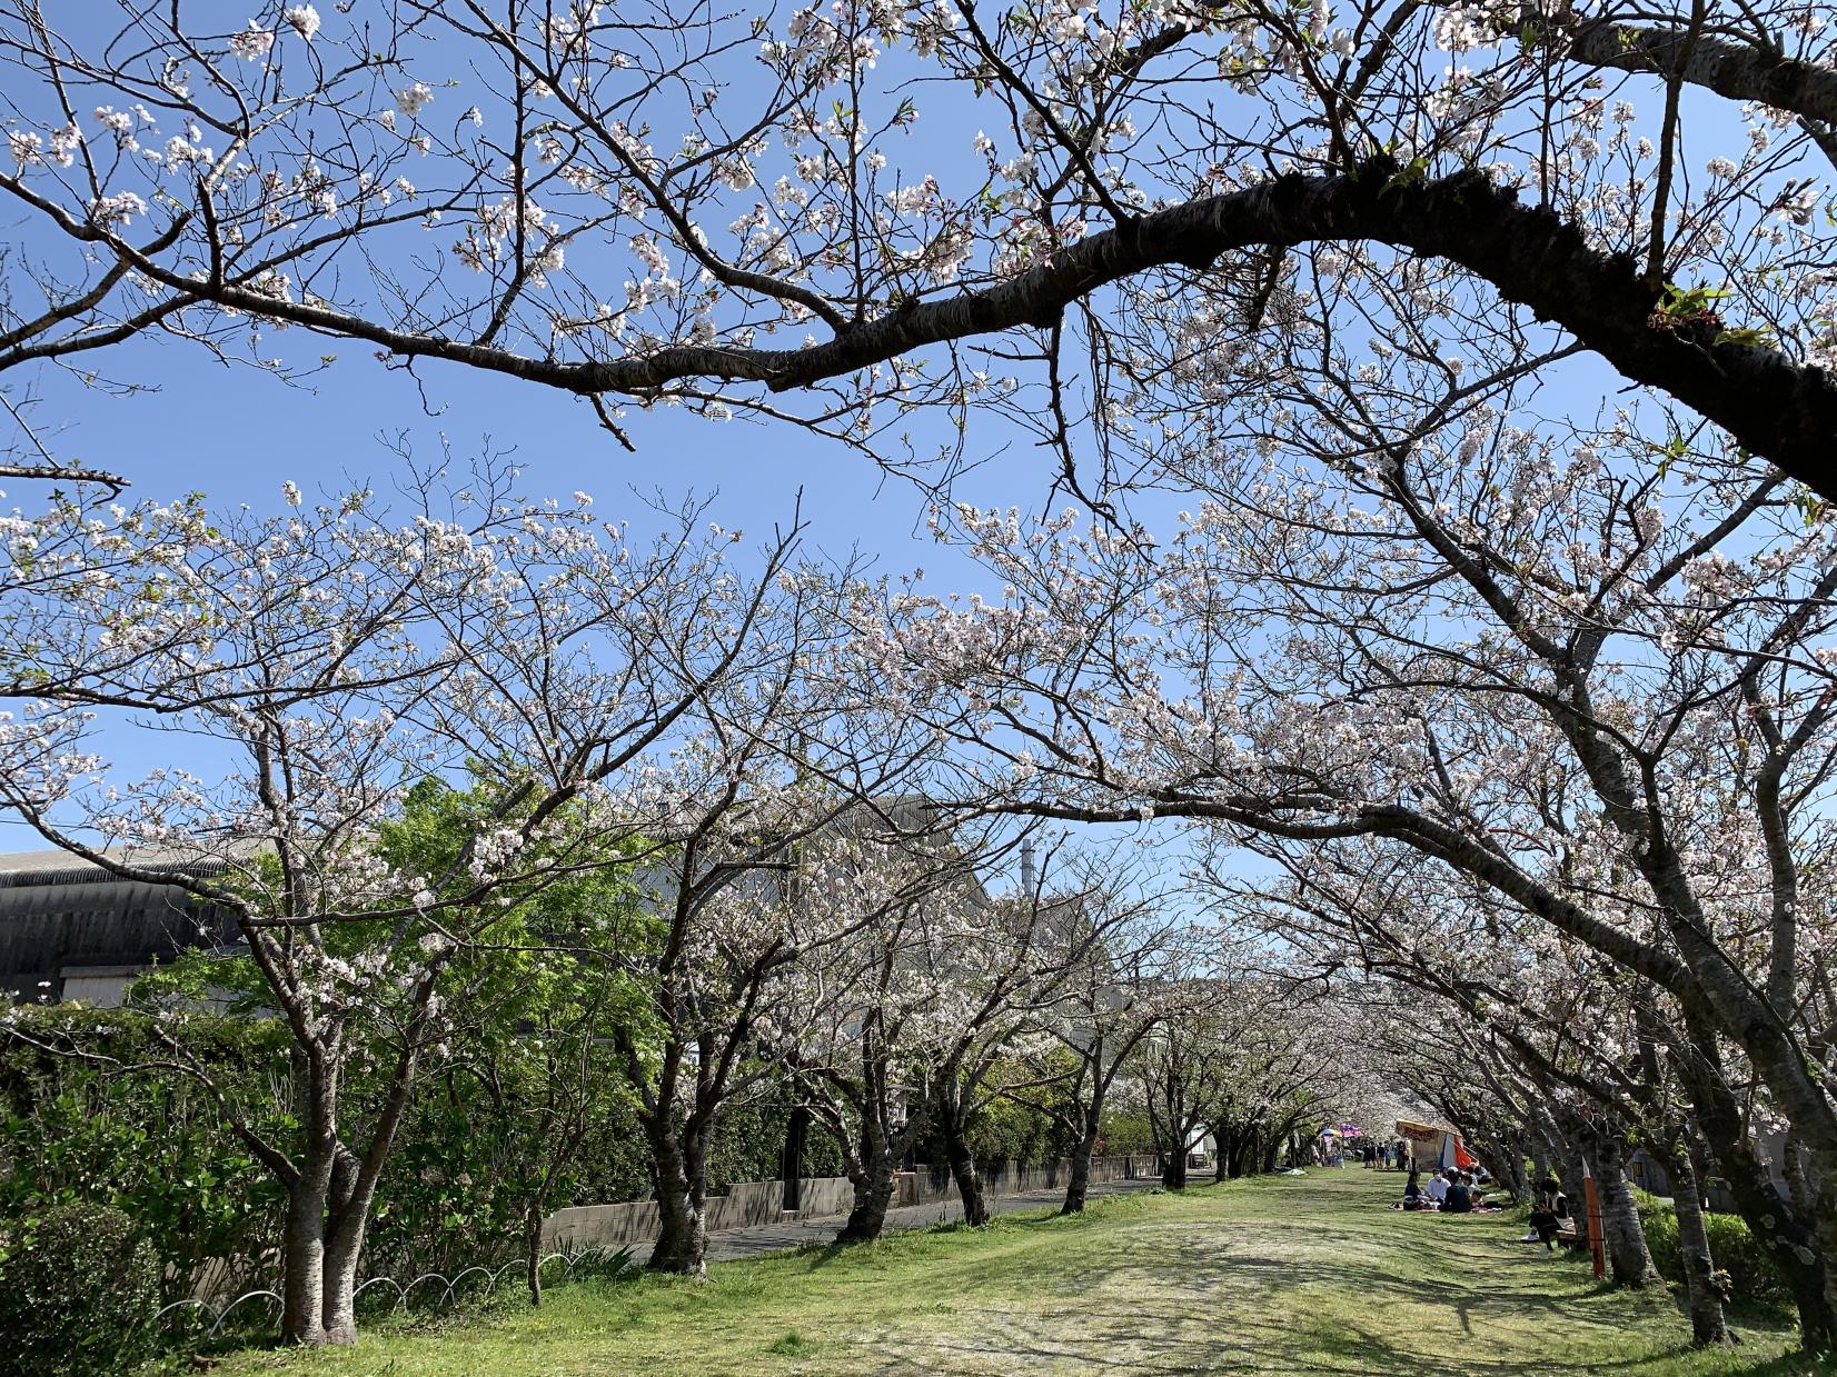
<path fill-rule="evenodd" d="M 797 723 L 801 764 L 817 756 L 810 718 L 775 722 Z M 860 722 L 851 716 L 856 745 Z M 852 986 L 830 984 L 845 962 L 840 953 L 873 946 L 891 914 L 909 912 L 942 872 L 957 874 L 955 865 L 887 861 L 887 837 L 930 828 L 909 804 L 889 808 L 884 795 L 876 802 L 874 786 L 896 786 L 915 758 L 904 749 L 887 753 L 884 740 L 874 755 L 849 756 L 854 789 L 843 791 L 838 756 L 823 773 L 795 778 L 757 736 L 722 736 L 720 786 L 672 828 L 674 845 L 648 876 L 663 914 L 645 977 L 654 1017 L 619 1047 L 639 1085 L 658 1179 L 661 1230 L 650 1267 L 689 1276 L 707 1269 L 707 1153 L 724 1111 L 784 1067 L 806 1076 L 794 1048 L 821 1028 L 836 1034 L 832 1047 L 858 1045 L 880 1065 L 874 1028 L 834 1023 L 858 1012 L 847 1002 Z M 843 1133 L 840 1118 L 823 1122 Z M 856 1155 L 841 1140 L 851 1175 L 867 1181 L 880 1140 L 863 1138 Z"/>

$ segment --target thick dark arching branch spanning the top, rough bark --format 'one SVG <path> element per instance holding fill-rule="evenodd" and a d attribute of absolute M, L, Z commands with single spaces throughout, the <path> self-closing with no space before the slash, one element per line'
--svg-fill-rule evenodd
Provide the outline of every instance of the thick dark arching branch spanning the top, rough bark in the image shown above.
<path fill-rule="evenodd" d="M 1049 327 L 1073 301 L 1154 268 L 1205 268 L 1233 250 L 1313 241 L 1383 242 L 1457 263 L 1508 301 L 1572 332 L 1629 380 L 1677 398 L 1749 452 L 1837 498 L 1830 472 L 1837 380 L 1828 373 L 1776 349 L 1677 325 L 1655 310 L 1657 299 L 1629 257 L 1593 250 L 1574 226 L 1549 209 L 1521 206 L 1512 189 L 1481 173 L 1413 182 L 1387 158 L 1367 162 L 1354 176 L 1284 176 L 1144 215 L 1005 283 L 893 310 L 803 349 L 667 345 L 617 360 L 558 362 L 276 301 L 244 285 L 200 286 L 152 263 L 143 268 L 175 290 L 369 340 L 400 356 L 445 358 L 582 395 L 645 395 L 698 376 L 759 382 L 772 391 L 806 387 L 926 345 Z"/>

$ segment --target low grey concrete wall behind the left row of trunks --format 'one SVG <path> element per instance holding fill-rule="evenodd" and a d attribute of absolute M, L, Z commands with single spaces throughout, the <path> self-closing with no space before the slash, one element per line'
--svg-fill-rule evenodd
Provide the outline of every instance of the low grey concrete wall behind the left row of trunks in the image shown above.
<path fill-rule="evenodd" d="M 1152 1171 L 1146 1157 L 1093 1157 L 1091 1182 L 1119 1181 Z M 1060 1190 L 1071 1171 L 1065 1159 L 1038 1164 L 988 1162 L 983 1166 L 983 1186 L 990 1195 L 1025 1195 L 1034 1190 Z M 902 1171 L 893 1204 L 933 1204 L 955 1195 L 950 1168 L 920 1162 L 913 1171 Z M 803 1204 L 795 1215 L 786 1215 L 783 1181 L 737 1181 L 726 1195 L 709 1195 L 707 1228 L 775 1225 L 784 1217 L 821 1219 L 847 1214 L 854 1204 L 854 1186 L 847 1177 L 803 1177 L 799 1188 Z M 650 1243 L 658 1237 L 658 1203 L 626 1201 L 623 1204 L 575 1204 L 557 1210 L 542 1226 L 544 1248 L 625 1247 Z"/>

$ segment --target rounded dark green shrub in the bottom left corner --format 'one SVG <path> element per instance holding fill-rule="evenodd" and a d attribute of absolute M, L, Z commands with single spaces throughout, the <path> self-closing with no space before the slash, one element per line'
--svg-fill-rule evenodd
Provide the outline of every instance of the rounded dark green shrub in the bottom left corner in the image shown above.
<path fill-rule="evenodd" d="M 127 1371 L 152 1355 L 160 1265 L 108 1206 L 57 1204 L 7 1239 L 0 1335 L 46 1377 Z"/>

